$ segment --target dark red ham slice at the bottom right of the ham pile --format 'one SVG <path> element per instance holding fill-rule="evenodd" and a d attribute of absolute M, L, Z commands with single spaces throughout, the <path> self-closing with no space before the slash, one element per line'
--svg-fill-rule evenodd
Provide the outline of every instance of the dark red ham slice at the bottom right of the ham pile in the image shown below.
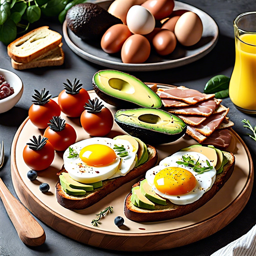
<path fill-rule="evenodd" d="M 217 148 L 227 148 L 231 140 L 231 134 L 228 129 L 215 131 L 202 144 L 213 145 Z"/>

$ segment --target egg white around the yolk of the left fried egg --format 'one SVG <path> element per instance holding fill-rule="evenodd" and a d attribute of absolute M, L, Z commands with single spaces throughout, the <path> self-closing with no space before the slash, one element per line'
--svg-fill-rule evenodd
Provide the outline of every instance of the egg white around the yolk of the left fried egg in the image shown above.
<path fill-rule="evenodd" d="M 90 166 L 81 160 L 79 153 L 82 148 L 93 144 L 106 145 L 112 149 L 114 145 L 123 146 L 129 155 L 121 158 L 117 155 L 118 152 L 115 152 L 116 159 L 110 164 L 104 166 Z M 70 147 L 78 153 L 78 156 L 68 158 L 68 148 L 63 154 L 64 167 L 72 179 L 81 183 L 94 183 L 112 177 L 122 176 L 127 174 L 135 166 L 136 154 L 132 152 L 133 147 L 127 140 L 94 137 L 79 141 Z"/>

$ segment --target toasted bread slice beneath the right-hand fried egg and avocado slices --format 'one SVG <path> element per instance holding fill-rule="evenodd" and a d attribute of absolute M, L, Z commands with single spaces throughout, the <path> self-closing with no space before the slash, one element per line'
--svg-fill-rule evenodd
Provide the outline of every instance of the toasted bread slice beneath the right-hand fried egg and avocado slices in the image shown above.
<path fill-rule="evenodd" d="M 170 202 L 167 202 L 167 205 L 159 205 L 155 204 L 155 209 L 144 209 L 135 206 L 131 202 L 132 193 L 128 194 L 125 199 L 124 206 L 124 214 L 125 216 L 133 221 L 138 222 L 154 222 L 154 221 L 162 221 L 168 219 L 174 219 L 186 214 L 189 214 L 202 205 L 206 204 L 212 197 L 216 195 L 216 193 L 222 188 L 222 186 L 227 182 L 230 178 L 235 164 L 235 157 L 232 153 L 223 152 L 225 157 L 228 159 L 228 163 L 223 167 L 223 172 L 216 175 L 216 179 L 211 189 L 208 190 L 201 198 L 197 201 L 187 204 L 187 205 L 176 205 Z M 140 182 L 133 185 L 139 186 Z"/>

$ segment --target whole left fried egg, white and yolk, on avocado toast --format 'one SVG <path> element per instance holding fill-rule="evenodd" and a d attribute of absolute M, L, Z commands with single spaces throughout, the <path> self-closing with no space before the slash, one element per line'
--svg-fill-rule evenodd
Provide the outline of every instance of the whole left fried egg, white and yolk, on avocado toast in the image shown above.
<path fill-rule="evenodd" d="M 90 145 L 91 150 L 83 152 L 83 148 Z M 121 158 L 119 152 L 113 149 L 114 145 L 123 146 L 128 156 Z M 78 155 L 69 158 L 68 148 L 63 154 L 64 167 L 72 179 L 81 183 L 93 183 L 111 178 L 113 175 L 125 175 L 135 165 L 136 154 L 132 152 L 133 147 L 127 140 L 94 137 L 79 141 L 70 147 Z"/>

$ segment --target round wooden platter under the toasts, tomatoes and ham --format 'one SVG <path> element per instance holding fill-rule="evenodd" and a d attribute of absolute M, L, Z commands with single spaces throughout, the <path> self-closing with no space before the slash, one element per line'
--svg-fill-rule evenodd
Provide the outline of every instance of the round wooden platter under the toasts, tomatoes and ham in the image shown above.
<path fill-rule="evenodd" d="M 91 99 L 97 95 L 90 92 Z M 55 98 L 57 100 L 57 98 Z M 114 113 L 116 109 L 108 104 Z M 68 118 L 61 113 L 62 118 L 71 124 L 77 132 L 77 141 L 90 136 L 82 129 L 79 118 Z M 24 163 L 22 152 L 29 138 L 43 134 L 29 118 L 19 127 L 12 144 L 11 171 L 15 191 L 21 202 L 41 221 L 52 229 L 92 246 L 121 251 L 153 251 L 183 246 L 203 239 L 217 232 L 231 222 L 246 205 L 253 185 L 253 164 L 248 148 L 231 129 L 232 138 L 227 151 L 236 157 L 234 172 L 223 188 L 196 211 L 176 219 L 138 223 L 127 219 L 124 215 L 124 199 L 131 191 L 137 179 L 109 194 L 95 205 L 84 210 L 68 210 L 60 206 L 56 199 L 55 185 L 58 180 L 56 173 L 63 165 L 63 152 L 56 152 L 54 162 L 46 170 L 38 172 L 35 181 L 27 178 L 29 168 Z M 107 137 L 124 134 L 120 127 L 114 124 Z M 187 135 L 173 143 L 156 146 L 158 161 L 175 153 L 181 148 L 196 144 Z M 47 193 L 39 190 L 39 184 L 50 185 Z M 100 220 L 99 227 L 91 225 L 95 214 L 108 206 L 113 206 L 113 213 Z M 114 218 L 122 216 L 124 225 L 114 225 Z"/>

